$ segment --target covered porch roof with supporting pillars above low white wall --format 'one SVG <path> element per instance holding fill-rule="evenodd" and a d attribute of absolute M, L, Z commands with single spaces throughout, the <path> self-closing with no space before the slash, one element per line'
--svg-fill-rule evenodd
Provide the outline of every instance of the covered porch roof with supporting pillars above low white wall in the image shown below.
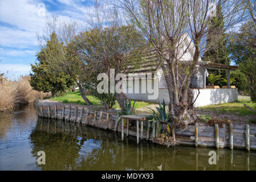
<path fill-rule="evenodd" d="M 201 61 L 198 63 L 201 68 L 204 68 L 204 75 L 203 75 L 203 85 L 206 88 L 206 70 L 207 69 L 218 69 L 218 70 L 225 70 L 227 71 L 227 88 L 230 88 L 230 70 L 235 70 L 238 66 L 231 66 L 231 65 L 224 65 L 224 64 L 215 64 L 210 63 L 209 61 Z"/>

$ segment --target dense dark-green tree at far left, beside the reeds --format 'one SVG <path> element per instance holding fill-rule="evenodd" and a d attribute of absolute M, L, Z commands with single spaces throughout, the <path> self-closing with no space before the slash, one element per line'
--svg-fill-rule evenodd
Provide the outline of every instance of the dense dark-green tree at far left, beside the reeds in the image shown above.
<path fill-rule="evenodd" d="M 46 48 L 42 48 L 36 54 L 37 62 L 34 65 L 31 64 L 31 71 L 33 73 L 30 74 L 30 85 L 32 88 L 38 91 L 51 92 L 52 96 L 55 96 L 74 84 L 70 75 L 60 69 L 51 67 L 52 60 L 55 59 L 60 62 L 64 59 L 64 51 L 66 51 L 66 48 L 63 46 L 63 43 L 60 43 L 57 35 L 52 33 Z"/>

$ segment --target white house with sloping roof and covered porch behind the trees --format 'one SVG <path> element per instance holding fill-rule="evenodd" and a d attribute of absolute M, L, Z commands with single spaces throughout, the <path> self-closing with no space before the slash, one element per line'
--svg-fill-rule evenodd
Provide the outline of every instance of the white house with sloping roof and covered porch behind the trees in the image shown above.
<path fill-rule="evenodd" d="M 186 41 L 188 43 L 188 40 Z M 189 44 L 191 46 L 192 44 Z M 192 54 L 190 53 L 193 51 L 193 48 L 190 48 L 188 52 L 186 52 L 180 59 L 180 61 L 184 64 L 189 63 L 192 60 Z M 202 61 L 201 59 L 198 61 L 196 65 L 196 71 L 192 76 L 192 80 L 190 83 L 190 89 L 193 91 L 193 100 L 197 97 L 198 90 L 200 94 L 197 97 L 196 102 L 194 102 L 194 106 L 206 106 L 206 105 L 213 105 L 213 104 L 220 104 L 225 102 L 234 102 L 238 100 L 238 90 L 237 88 L 230 88 L 230 71 L 237 69 L 237 66 L 231 65 L 222 65 L 222 64 L 213 64 L 210 62 Z M 208 69 L 220 69 L 227 71 L 227 86 L 226 88 L 206 88 L 206 77 L 208 76 Z M 146 93 L 141 93 L 142 88 L 146 85 L 141 84 L 141 79 L 139 81 L 129 82 L 127 85 L 127 97 L 132 100 L 139 100 L 139 101 L 150 101 L 150 102 L 162 102 L 164 99 L 166 103 L 169 102 L 168 90 L 166 88 L 165 78 L 162 73 L 162 69 L 159 65 L 156 64 L 145 64 L 143 68 L 133 69 L 132 73 L 137 73 L 137 75 L 143 75 L 145 73 L 157 73 L 157 78 L 159 79 L 159 94 L 158 98 L 155 100 L 149 100 L 148 96 L 151 95 L 146 90 Z M 129 79 L 127 79 L 129 80 Z M 132 84 L 131 84 L 132 83 Z M 131 92 L 131 88 L 133 92 Z M 140 90 L 139 93 L 135 93 L 135 88 Z M 129 92 L 130 90 L 130 92 Z"/>

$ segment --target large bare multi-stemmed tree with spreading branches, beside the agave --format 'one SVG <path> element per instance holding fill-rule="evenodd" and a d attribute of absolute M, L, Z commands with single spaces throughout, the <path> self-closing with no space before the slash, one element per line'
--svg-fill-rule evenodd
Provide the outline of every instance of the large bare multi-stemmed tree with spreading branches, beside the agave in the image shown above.
<path fill-rule="evenodd" d="M 155 61 L 164 71 L 168 88 L 169 113 L 173 126 L 182 127 L 194 123 L 197 116 L 189 90 L 190 78 L 198 60 L 206 51 L 206 38 L 215 36 L 218 39 L 218 36 L 221 36 L 208 34 L 210 16 L 214 15 L 212 6 L 223 7 L 225 28 L 228 28 L 241 19 L 241 16 L 238 16 L 239 1 L 119 0 L 118 2 L 118 6 L 127 12 L 131 22 L 155 49 L 157 55 Z M 182 64 L 180 60 L 186 52 L 191 54 L 192 59 Z"/>

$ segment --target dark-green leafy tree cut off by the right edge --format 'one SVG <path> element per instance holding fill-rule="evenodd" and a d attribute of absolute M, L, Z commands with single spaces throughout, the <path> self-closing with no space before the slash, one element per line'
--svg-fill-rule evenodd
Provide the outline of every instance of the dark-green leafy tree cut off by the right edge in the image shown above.
<path fill-rule="evenodd" d="M 256 101 L 256 23 L 247 22 L 231 38 L 231 59 L 246 75 L 251 100 Z"/>

